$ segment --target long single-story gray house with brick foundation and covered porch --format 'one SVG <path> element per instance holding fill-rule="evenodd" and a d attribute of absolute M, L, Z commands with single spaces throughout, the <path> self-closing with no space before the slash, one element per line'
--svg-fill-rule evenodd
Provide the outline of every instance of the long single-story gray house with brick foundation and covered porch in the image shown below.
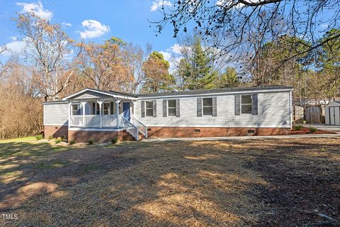
<path fill-rule="evenodd" d="M 45 137 L 104 142 L 143 137 L 280 135 L 292 128 L 292 87 L 154 94 L 84 89 L 45 102 Z"/>

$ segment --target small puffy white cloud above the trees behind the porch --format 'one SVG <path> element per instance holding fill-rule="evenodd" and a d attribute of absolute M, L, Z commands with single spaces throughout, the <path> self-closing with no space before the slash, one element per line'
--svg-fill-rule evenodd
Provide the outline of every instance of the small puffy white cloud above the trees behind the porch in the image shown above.
<path fill-rule="evenodd" d="M 84 31 L 79 32 L 80 38 L 98 38 L 105 33 L 110 31 L 110 27 L 102 24 L 99 21 L 95 20 L 85 20 L 81 22 L 81 26 L 84 28 Z"/>

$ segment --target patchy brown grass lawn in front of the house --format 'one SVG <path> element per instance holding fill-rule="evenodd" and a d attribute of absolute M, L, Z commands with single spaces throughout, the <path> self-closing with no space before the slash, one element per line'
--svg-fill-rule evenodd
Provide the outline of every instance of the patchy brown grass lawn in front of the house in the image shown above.
<path fill-rule="evenodd" d="M 0 143 L 0 226 L 336 226 L 340 140 Z"/>

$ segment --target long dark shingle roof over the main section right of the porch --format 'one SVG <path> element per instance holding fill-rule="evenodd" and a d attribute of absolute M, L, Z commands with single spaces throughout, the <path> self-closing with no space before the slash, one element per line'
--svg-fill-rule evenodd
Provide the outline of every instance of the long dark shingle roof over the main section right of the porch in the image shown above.
<path fill-rule="evenodd" d="M 149 94 L 138 94 L 138 97 L 153 97 L 153 96 L 180 96 L 180 95 L 195 95 L 195 94 L 214 94 L 221 92 L 252 92 L 261 90 L 276 90 L 276 89 L 293 89 L 293 87 L 287 86 L 263 86 L 263 87 L 232 87 L 222 89 L 210 89 L 210 90 L 188 90 L 181 92 L 158 92 Z"/>

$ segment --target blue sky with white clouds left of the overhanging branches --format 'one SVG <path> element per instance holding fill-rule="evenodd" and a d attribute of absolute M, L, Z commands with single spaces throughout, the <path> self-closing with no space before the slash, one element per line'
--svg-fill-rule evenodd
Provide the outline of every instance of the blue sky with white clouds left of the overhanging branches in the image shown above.
<path fill-rule="evenodd" d="M 159 0 L 2 0 L 0 7 L 0 45 L 20 48 L 21 35 L 16 29 L 17 13 L 35 11 L 38 16 L 62 24 L 64 31 L 75 40 L 101 43 L 112 36 L 137 43 L 145 48 L 151 43 L 153 50 L 171 50 L 176 44 L 171 26 L 156 36 L 149 21 L 162 18 Z M 170 4 L 169 1 L 164 1 Z M 159 6 L 159 8 L 157 8 Z M 148 21 L 149 20 L 149 21 Z M 169 56 L 167 56 L 169 57 Z"/>

